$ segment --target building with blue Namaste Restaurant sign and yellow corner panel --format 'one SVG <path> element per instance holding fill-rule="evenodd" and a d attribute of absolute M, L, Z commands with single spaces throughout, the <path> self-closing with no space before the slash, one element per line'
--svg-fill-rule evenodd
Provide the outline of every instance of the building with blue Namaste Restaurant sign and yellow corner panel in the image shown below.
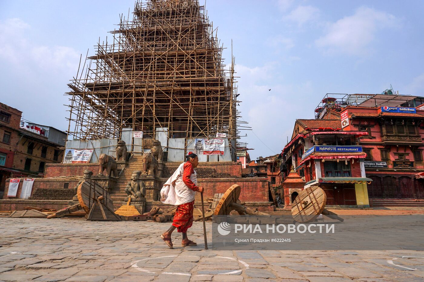
<path fill-rule="evenodd" d="M 304 179 L 304 188 L 318 185 L 327 196 L 327 205 L 369 207 L 363 159 L 366 154 L 359 146 L 362 131 L 343 131 L 340 119 L 297 119 L 291 141 L 282 150 L 285 175 L 291 166 Z M 290 207 L 298 194 L 283 181 L 285 207 Z M 293 178 L 293 177 L 292 177 Z"/>

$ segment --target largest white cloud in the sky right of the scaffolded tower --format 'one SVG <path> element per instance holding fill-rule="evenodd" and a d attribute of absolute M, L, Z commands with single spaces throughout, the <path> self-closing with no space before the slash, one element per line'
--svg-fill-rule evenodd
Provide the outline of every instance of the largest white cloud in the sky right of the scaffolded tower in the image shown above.
<path fill-rule="evenodd" d="M 360 7 L 355 14 L 329 25 L 328 33 L 317 39 L 318 47 L 329 52 L 351 55 L 367 53 L 368 45 L 375 40 L 378 30 L 396 25 L 396 17 L 372 8 Z"/>

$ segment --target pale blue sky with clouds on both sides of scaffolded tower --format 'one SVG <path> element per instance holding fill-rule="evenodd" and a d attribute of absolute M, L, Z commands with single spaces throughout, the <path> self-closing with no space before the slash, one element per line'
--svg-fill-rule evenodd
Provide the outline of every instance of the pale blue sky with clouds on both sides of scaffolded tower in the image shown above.
<path fill-rule="evenodd" d="M 67 130 L 63 94 L 80 55 L 94 54 L 133 7 L 134 0 L 0 1 L 0 101 Z M 295 120 L 312 119 L 326 93 L 392 85 L 424 94 L 424 1 L 208 0 L 206 8 L 226 62 L 233 42 L 252 159 L 281 152 Z"/>

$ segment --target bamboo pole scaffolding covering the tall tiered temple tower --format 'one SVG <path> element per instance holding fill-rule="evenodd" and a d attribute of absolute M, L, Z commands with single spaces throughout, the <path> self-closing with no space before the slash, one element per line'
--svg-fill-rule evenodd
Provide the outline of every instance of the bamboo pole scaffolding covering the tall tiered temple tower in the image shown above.
<path fill-rule="evenodd" d="M 117 26 L 68 84 L 68 139 L 120 138 L 123 128 L 155 138 L 168 127 L 170 138 L 237 141 L 234 57 L 226 69 L 198 0 L 138 0 Z"/>

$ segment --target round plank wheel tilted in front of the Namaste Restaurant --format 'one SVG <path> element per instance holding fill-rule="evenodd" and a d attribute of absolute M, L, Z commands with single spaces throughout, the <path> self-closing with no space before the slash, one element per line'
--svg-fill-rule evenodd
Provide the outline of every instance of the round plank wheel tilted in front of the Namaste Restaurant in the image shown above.
<path fill-rule="evenodd" d="M 292 204 L 292 216 L 297 222 L 307 223 L 323 213 L 327 196 L 318 186 L 311 186 L 296 197 Z"/>

